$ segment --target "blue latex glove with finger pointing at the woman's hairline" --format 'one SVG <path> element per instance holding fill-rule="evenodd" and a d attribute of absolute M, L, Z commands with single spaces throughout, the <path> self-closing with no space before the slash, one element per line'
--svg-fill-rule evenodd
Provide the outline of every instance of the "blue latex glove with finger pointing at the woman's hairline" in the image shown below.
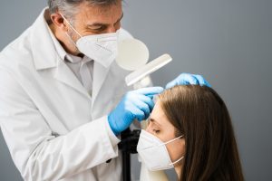
<path fill-rule="evenodd" d="M 130 127 L 134 119 L 147 119 L 153 110 L 153 96 L 163 91 L 161 87 L 142 88 L 127 92 L 108 116 L 110 127 L 115 135 Z"/>

